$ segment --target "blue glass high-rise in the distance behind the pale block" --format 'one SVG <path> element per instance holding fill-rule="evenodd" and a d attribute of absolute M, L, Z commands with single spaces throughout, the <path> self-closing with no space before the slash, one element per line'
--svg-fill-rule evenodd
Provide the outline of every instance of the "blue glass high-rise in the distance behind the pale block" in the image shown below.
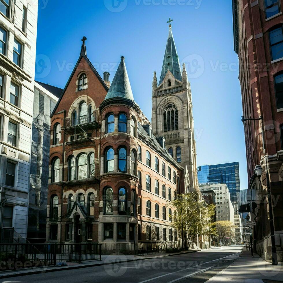
<path fill-rule="evenodd" d="M 198 183 L 226 184 L 230 191 L 234 213 L 238 213 L 240 204 L 239 162 L 199 166 Z"/>

